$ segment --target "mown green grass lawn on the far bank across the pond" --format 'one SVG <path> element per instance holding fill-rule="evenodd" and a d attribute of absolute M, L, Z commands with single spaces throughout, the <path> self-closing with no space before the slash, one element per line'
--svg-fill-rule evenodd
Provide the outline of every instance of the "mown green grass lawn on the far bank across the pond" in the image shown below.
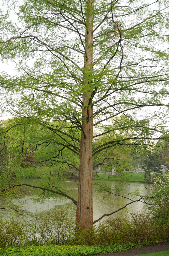
<path fill-rule="evenodd" d="M 104 173 L 98 173 L 97 176 L 94 177 L 95 180 L 118 180 L 119 175 L 106 175 Z M 149 183 L 149 181 L 144 180 L 144 174 L 124 174 L 124 177 L 130 181 L 130 182 L 144 182 Z M 151 174 L 151 177 L 153 177 L 153 174 Z"/>

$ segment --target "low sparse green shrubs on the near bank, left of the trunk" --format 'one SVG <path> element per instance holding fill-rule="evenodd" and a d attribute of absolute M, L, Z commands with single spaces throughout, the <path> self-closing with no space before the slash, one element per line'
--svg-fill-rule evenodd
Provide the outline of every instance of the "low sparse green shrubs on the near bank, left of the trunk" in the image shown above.
<path fill-rule="evenodd" d="M 0 247 L 43 244 L 71 244 L 75 222 L 67 218 L 67 211 L 41 211 L 31 221 L 0 219 Z"/>

